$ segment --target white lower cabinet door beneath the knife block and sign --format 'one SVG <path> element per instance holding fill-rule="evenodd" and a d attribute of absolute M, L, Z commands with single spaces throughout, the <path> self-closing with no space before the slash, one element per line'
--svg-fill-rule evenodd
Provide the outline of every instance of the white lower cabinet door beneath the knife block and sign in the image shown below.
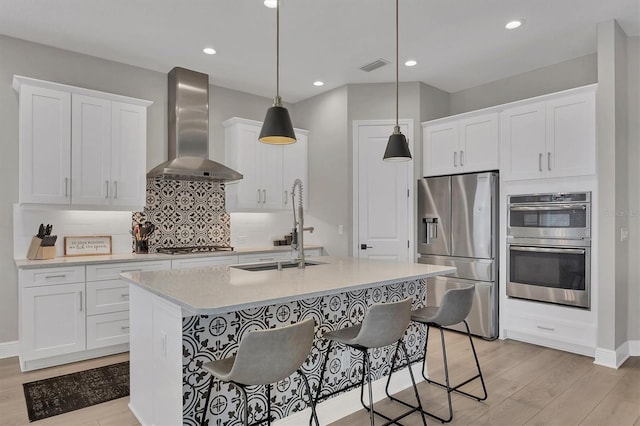
<path fill-rule="evenodd" d="M 84 282 L 21 289 L 22 361 L 85 349 Z"/>

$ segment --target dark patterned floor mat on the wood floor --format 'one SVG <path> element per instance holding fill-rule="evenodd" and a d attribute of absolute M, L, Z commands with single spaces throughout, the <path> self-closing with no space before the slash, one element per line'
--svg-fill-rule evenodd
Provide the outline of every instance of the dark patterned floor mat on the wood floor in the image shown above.
<path fill-rule="evenodd" d="M 129 361 L 24 383 L 29 421 L 129 395 Z"/>

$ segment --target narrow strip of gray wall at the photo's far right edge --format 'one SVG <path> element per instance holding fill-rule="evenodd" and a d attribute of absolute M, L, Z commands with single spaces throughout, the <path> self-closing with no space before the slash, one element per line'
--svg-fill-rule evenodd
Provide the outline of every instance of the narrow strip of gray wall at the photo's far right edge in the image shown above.
<path fill-rule="evenodd" d="M 627 40 L 629 77 L 628 339 L 640 341 L 640 37 Z"/>

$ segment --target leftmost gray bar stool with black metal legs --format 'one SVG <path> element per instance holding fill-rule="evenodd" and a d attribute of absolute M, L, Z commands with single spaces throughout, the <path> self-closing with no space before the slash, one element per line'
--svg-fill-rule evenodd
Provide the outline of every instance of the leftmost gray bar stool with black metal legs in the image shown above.
<path fill-rule="evenodd" d="M 249 410 L 246 386 L 266 385 L 267 387 L 267 418 L 258 423 L 271 424 L 271 384 L 284 380 L 297 371 L 303 379 L 311 416 L 319 425 L 316 415 L 315 401 L 311 394 L 309 381 L 300 369 L 302 363 L 309 356 L 313 344 L 315 321 L 307 318 L 297 324 L 268 330 L 252 331 L 240 341 L 235 356 L 203 364 L 202 368 L 211 373 L 207 399 L 200 424 L 205 425 L 209 411 L 209 399 L 214 377 L 223 382 L 233 383 L 240 389 L 244 403 L 244 426 L 249 425 Z M 302 393 L 300 393 L 302 396 Z"/>

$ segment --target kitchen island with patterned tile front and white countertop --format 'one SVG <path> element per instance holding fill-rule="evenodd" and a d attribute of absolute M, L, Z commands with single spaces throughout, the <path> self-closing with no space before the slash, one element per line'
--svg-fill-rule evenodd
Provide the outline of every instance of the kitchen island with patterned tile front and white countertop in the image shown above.
<path fill-rule="evenodd" d="M 231 356 L 249 331 L 280 327 L 305 318 L 316 321 L 316 336 L 358 323 L 367 306 L 412 297 L 424 301 L 424 280 L 455 268 L 417 263 L 369 261 L 323 256 L 305 269 L 247 271 L 212 266 L 172 271 L 132 272 L 130 285 L 130 407 L 141 424 L 199 424 L 209 377 L 203 363 Z M 421 348 L 423 330 L 411 326 L 410 356 Z M 303 369 L 317 387 L 322 363 L 316 341 Z M 331 355 L 324 389 L 358 383 L 362 363 L 350 351 Z M 353 353 L 355 355 L 355 353 Z M 372 354 L 374 378 L 388 374 L 392 350 Z M 386 370 L 385 370 L 386 367 Z M 298 378 L 274 386 L 272 416 L 284 418 L 304 407 Z M 295 382 L 294 382 L 295 381 Z M 209 424 L 237 421 L 239 394 L 233 385 L 216 383 Z M 263 418 L 264 392 L 250 396 L 251 421 Z M 322 421 L 322 419 L 321 419 Z"/>

